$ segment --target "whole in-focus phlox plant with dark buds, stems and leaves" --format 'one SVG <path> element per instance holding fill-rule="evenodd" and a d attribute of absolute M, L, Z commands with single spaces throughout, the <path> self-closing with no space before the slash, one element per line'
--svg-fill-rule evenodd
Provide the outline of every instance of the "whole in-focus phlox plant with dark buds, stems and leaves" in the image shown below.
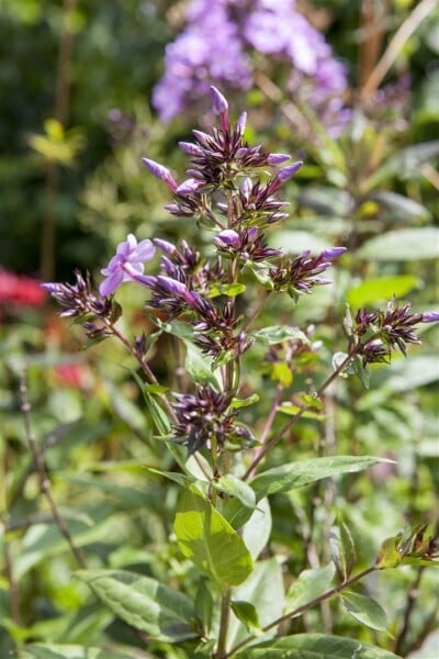
<path fill-rule="evenodd" d="M 273 498 L 328 479 L 337 487 L 344 474 L 389 460 L 336 451 L 294 459 L 293 450 L 280 454 L 279 447 L 291 446 L 302 420 L 325 422 L 338 378 L 358 377 L 368 387 L 371 365 L 406 355 L 420 343 L 421 325 L 439 321 L 439 313 L 415 313 L 394 299 L 380 309 L 347 308 L 339 343 L 330 347 L 333 362 L 322 375 L 315 327 L 296 326 L 294 310 L 330 283 L 327 275 L 346 248 L 291 256 L 270 246 L 270 228 L 289 217 L 282 188 L 302 163 L 248 145 L 246 113 L 232 122 L 224 96 L 213 87 L 211 94 L 218 125 L 210 133 L 194 130 L 193 142 L 179 144 L 190 161 L 185 180 L 144 159 L 172 194 L 167 210 L 182 223 L 196 222 L 206 236 L 202 247 L 128 234 L 102 269 L 99 291 L 79 271 L 72 284 L 43 284 L 61 315 L 82 325 L 90 345 L 119 340 L 137 364 L 132 376 L 164 456 L 161 466 L 145 466 L 145 478 L 179 490 L 169 543 L 180 581 L 94 569 L 91 550 L 77 546 L 53 499 L 52 510 L 81 568 L 76 577 L 136 630 L 147 656 L 394 657 L 362 640 L 361 626 L 386 632 L 387 622 L 358 584 L 391 568 L 437 565 L 437 540 L 425 524 L 395 529 L 359 569 L 352 534 L 331 512 L 331 561 L 292 574 L 273 537 Z M 145 294 L 148 327 L 134 337 L 119 322 L 119 289 L 130 286 Z M 159 343 L 176 355 L 176 372 L 165 379 L 151 359 Z M 256 365 L 270 383 L 267 391 L 252 389 Z M 44 481 L 44 460 L 34 448 Z M 323 634 L 318 622 L 306 634 L 295 632 L 297 618 L 335 600 L 359 624 L 356 632 Z M 61 656 L 61 646 L 57 651 Z"/>

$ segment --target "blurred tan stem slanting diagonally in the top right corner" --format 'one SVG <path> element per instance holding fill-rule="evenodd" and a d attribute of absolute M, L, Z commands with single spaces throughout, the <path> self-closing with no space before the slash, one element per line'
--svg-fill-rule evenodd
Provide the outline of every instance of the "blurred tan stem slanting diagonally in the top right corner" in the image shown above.
<path fill-rule="evenodd" d="M 384 76 L 402 51 L 404 44 L 412 36 L 415 30 L 417 30 L 424 19 L 426 19 L 430 11 L 432 11 L 437 5 L 437 0 L 421 0 L 421 2 L 415 7 L 410 15 L 404 21 L 404 23 L 394 34 L 384 55 L 381 57 L 372 74 L 369 76 L 368 81 L 361 90 L 362 99 L 367 99 L 376 91 Z"/>

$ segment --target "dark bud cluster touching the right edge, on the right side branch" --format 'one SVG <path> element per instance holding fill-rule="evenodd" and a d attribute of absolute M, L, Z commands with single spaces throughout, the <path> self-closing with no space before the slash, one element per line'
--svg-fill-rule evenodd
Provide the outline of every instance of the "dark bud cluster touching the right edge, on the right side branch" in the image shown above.
<path fill-rule="evenodd" d="M 356 351 L 362 356 L 363 364 L 389 361 L 392 349 L 407 353 L 407 344 L 420 344 L 421 339 L 415 334 L 419 323 L 439 321 L 439 313 L 410 313 L 410 304 L 399 308 L 391 301 L 386 311 L 360 309 L 356 316 L 353 336 Z"/>

